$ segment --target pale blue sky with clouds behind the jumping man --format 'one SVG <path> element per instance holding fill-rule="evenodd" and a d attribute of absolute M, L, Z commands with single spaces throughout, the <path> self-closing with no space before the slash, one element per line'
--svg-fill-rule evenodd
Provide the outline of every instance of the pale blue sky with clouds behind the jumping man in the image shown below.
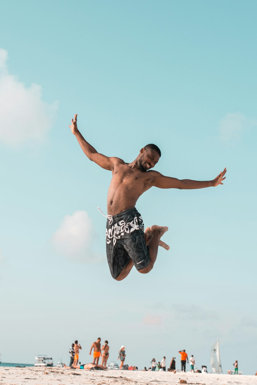
<path fill-rule="evenodd" d="M 256 318 L 256 2 L 9 1 L 1 4 L 0 280 L 4 362 L 81 361 L 108 339 L 110 360 L 169 361 L 186 349 L 210 369 L 253 374 Z M 137 209 L 167 225 L 154 269 L 111 278 L 105 257 L 111 173 L 82 153 L 223 186 L 152 188 Z M 179 365 L 178 365 L 179 366 Z"/>

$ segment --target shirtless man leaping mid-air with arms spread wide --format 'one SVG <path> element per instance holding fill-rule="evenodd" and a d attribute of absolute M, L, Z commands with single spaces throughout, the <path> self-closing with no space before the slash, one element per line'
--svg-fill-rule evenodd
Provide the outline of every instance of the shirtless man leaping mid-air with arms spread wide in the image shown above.
<path fill-rule="evenodd" d="M 160 243 L 168 227 L 153 225 L 143 232 L 143 219 L 135 208 L 139 196 L 153 186 L 161 189 L 215 187 L 223 184 L 226 168 L 211 181 L 179 180 L 151 170 L 161 156 L 155 144 L 143 147 L 134 161 L 126 163 L 120 158 L 99 154 L 79 132 L 77 114 L 69 127 L 86 156 L 113 174 L 107 197 L 106 224 L 106 254 L 112 277 L 124 280 L 133 265 L 139 273 L 149 273 L 155 264 L 159 244 L 169 249 L 168 245 Z"/>

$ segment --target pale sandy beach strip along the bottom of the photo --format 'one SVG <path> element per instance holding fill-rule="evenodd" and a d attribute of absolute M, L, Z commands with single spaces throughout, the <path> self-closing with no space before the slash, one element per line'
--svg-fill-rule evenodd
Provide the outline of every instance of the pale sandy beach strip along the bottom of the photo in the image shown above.
<path fill-rule="evenodd" d="M 90 385 L 157 385 L 157 384 L 179 384 L 180 379 L 186 380 L 190 385 L 254 385 L 257 384 L 257 376 L 254 375 L 217 375 L 186 372 L 176 374 L 167 372 L 141 372 L 130 370 L 70 370 L 64 368 L 39 368 L 39 367 L 0 367 L 1 385 L 68 385 L 68 384 L 90 384 Z"/>

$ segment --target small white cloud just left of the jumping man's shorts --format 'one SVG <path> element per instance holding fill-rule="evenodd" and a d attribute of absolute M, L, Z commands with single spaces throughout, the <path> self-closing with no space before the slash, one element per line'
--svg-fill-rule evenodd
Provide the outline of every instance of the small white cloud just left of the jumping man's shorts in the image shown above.
<path fill-rule="evenodd" d="M 97 263 L 104 256 L 92 252 L 94 226 L 86 211 L 66 215 L 52 236 L 58 254 L 76 262 Z"/>

